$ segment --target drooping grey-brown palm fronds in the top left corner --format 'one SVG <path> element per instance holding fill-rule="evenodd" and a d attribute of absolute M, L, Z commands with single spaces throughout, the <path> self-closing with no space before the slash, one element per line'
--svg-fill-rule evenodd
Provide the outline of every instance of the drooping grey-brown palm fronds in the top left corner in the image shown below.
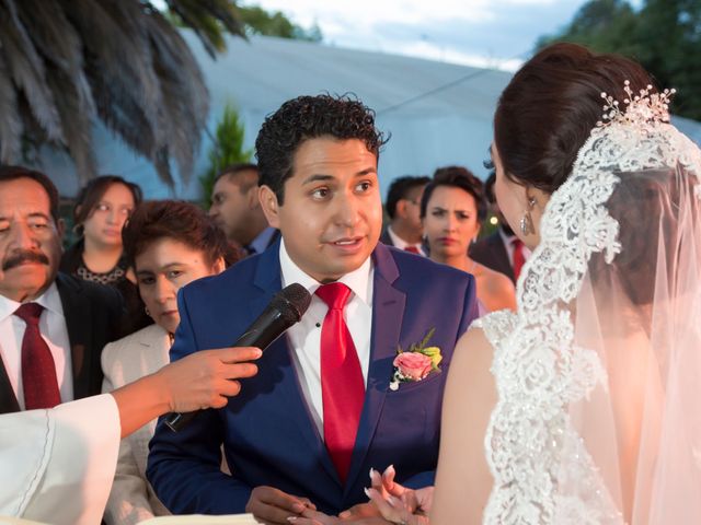
<path fill-rule="evenodd" d="M 208 51 L 243 36 L 230 0 L 166 0 Z M 0 158 L 60 148 L 81 182 L 95 174 L 100 118 L 171 187 L 187 182 L 209 107 L 177 30 L 148 0 L 0 0 Z"/>

